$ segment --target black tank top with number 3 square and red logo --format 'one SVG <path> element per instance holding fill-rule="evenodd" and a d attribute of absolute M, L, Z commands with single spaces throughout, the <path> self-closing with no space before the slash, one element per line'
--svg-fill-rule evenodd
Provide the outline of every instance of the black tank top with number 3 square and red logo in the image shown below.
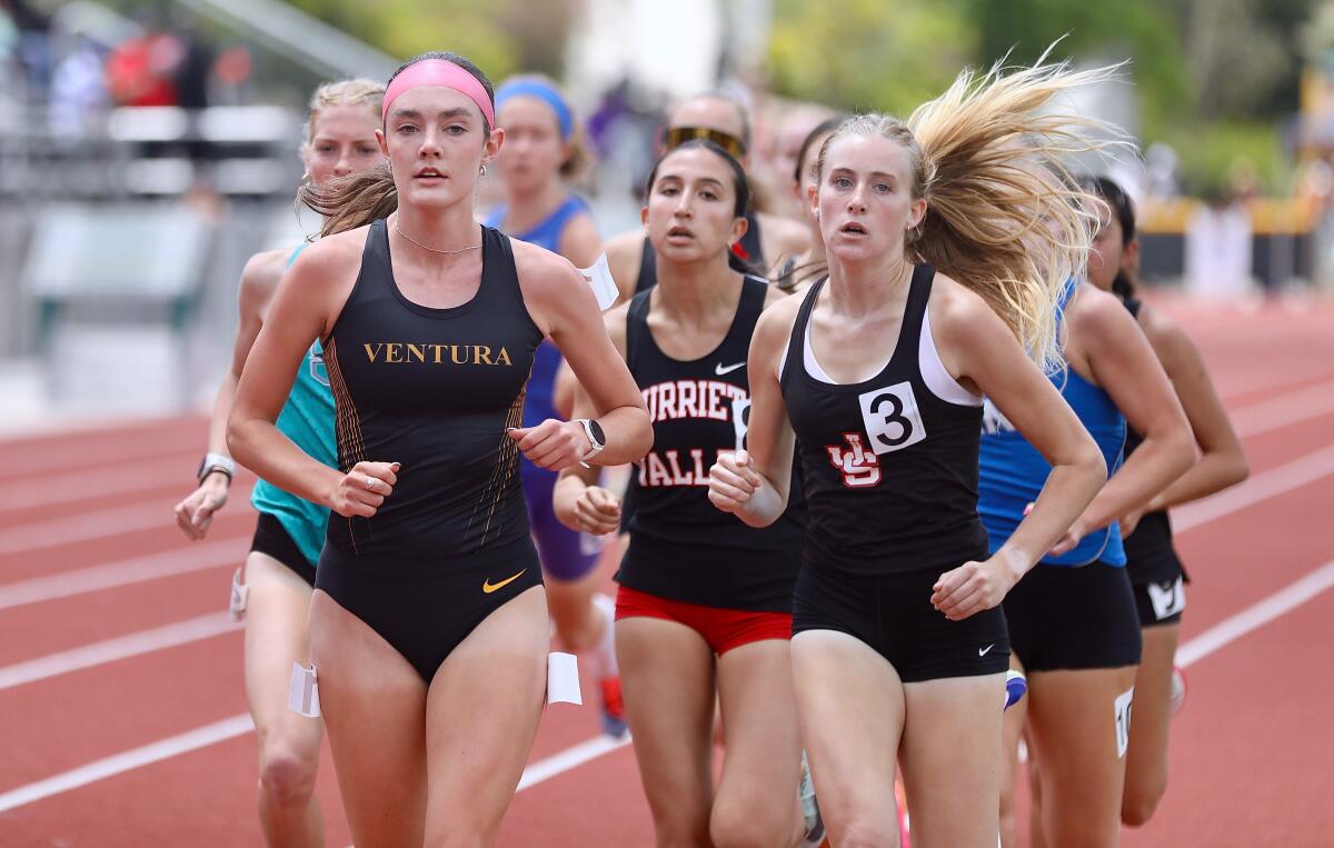
<path fill-rule="evenodd" d="M 835 385 L 804 364 L 807 292 L 783 364 L 810 509 L 806 560 L 858 575 L 947 568 L 987 553 L 978 519 L 982 407 L 940 400 L 922 379 L 918 344 L 935 271 L 912 272 L 898 344 L 884 369 Z"/>

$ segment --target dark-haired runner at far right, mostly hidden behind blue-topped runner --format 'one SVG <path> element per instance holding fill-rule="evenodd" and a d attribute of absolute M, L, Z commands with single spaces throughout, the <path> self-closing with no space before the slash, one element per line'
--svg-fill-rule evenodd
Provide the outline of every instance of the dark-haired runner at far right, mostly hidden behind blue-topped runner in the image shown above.
<path fill-rule="evenodd" d="M 1126 192 L 1107 177 L 1082 180 L 1089 193 L 1109 208 L 1089 256 L 1089 281 L 1114 292 L 1135 316 L 1158 361 L 1173 383 L 1190 420 L 1199 461 L 1146 505 L 1121 519 L 1126 575 L 1139 609 L 1143 657 L 1135 673 L 1134 720 L 1126 752 L 1126 791 L 1121 820 L 1131 827 L 1149 821 L 1167 789 L 1167 720 L 1171 716 L 1173 659 L 1186 608 L 1185 571 L 1173 547 L 1167 508 L 1199 500 L 1246 479 L 1250 469 L 1241 440 L 1227 420 L 1199 348 L 1166 312 L 1135 296 L 1139 265 L 1135 209 Z M 1126 456 L 1143 443 L 1130 428 Z"/>

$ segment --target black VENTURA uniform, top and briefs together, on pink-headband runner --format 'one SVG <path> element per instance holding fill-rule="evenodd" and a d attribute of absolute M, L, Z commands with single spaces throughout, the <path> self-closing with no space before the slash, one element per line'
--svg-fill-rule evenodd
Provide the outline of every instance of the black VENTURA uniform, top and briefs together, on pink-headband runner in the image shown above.
<path fill-rule="evenodd" d="M 542 583 L 506 435 L 522 424 L 542 331 L 510 240 L 482 232 L 476 296 L 432 309 L 399 291 L 386 223 L 371 224 L 362 273 L 324 340 L 339 465 L 395 456 L 406 471 L 374 517 L 334 516 L 316 588 L 427 681 L 492 609 Z"/>

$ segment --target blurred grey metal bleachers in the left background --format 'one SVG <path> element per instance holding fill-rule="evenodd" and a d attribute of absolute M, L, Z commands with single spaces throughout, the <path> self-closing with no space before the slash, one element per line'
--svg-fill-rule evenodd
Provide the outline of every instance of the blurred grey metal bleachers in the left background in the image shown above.
<path fill-rule="evenodd" d="M 265 97 L 287 105 L 76 120 L 0 85 L 0 365 L 36 367 L 53 407 L 164 412 L 211 395 L 245 260 L 317 228 L 293 209 L 299 91 L 394 67 L 283 3 L 177 5 L 309 79 Z"/>

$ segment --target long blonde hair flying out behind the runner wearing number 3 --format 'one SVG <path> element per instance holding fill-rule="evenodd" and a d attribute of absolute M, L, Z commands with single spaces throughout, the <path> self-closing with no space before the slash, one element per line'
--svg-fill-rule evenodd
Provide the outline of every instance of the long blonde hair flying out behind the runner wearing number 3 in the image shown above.
<path fill-rule="evenodd" d="M 886 115 L 848 119 L 820 147 L 816 175 L 842 136 L 902 144 L 912 197 L 927 203 L 904 237 L 907 257 L 976 292 L 1030 359 L 1053 369 L 1062 364 L 1057 304 L 1070 277 L 1083 275 L 1097 231 L 1063 159 L 1127 143 L 1109 124 L 1057 104 L 1071 89 L 1114 79 L 1121 65 L 1077 72 L 1045 59 L 1031 68 L 964 69 L 906 123 Z"/>

